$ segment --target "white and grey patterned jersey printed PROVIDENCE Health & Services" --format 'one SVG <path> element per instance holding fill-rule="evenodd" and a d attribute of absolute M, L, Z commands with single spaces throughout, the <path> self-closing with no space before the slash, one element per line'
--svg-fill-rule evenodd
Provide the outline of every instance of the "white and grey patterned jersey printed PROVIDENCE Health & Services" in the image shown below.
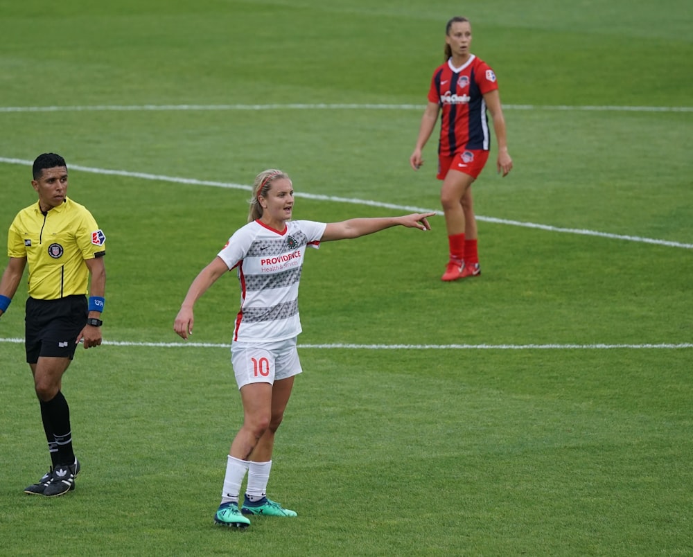
<path fill-rule="evenodd" d="M 238 267 L 240 311 L 234 341 L 274 342 L 301 333 L 299 281 L 307 247 L 319 247 L 327 225 L 295 220 L 278 232 L 260 221 L 238 229 L 218 256 Z"/>

